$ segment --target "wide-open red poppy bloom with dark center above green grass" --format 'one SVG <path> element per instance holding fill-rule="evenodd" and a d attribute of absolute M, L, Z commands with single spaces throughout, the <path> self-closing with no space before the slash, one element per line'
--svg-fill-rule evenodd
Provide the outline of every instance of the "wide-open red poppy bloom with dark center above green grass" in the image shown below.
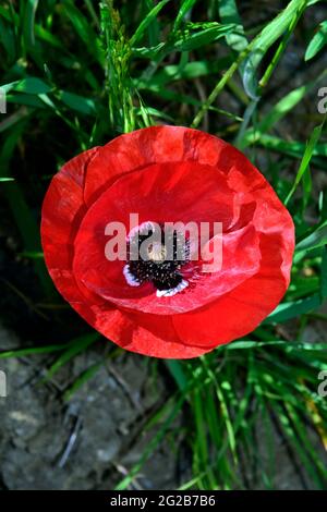
<path fill-rule="evenodd" d="M 140 223 L 129 231 L 131 212 Z M 131 247 L 109 260 L 109 221 L 128 228 L 128 246 L 152 225 L 221 222 L 221 266 L 203 271 L 191 239 L 183 260 L 167 263 L 165 241 L 148 246 L 147 260 L 133 261 Z M 210 231 L 208 251 L 216 237 Z M 126 350 L 172 358 L 251 332 L 283 296 L 294 248 L 289 212 L 245 156 L 173 126 L 121 135 L 65 163 L 44 202 L 41 240 L 56 287 L 88 324 Z"/>

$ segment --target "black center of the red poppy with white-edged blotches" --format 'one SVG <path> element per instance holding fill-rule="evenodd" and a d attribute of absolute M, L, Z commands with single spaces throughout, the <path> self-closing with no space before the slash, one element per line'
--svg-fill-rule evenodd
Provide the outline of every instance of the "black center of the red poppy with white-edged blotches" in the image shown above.
<path fill-rule="evenodd" d="M 158 296 L 171 296 L 187 287 L 181 270 L 190 260 L 190 243 L 175 230 L 141 224 L 129 235 L 128 255 L 124 276 L 130 285 L 152 282 Z"/>

